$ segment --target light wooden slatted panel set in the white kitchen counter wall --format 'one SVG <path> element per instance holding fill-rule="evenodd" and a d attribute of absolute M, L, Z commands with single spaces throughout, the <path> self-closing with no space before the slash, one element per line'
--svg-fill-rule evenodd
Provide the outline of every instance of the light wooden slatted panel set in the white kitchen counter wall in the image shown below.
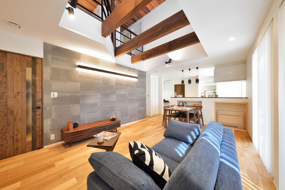
<path fill-rule="evenodd" d="M 247 130 L 247 102 L 215 102 L 215 121 L 224 127 Z"/>

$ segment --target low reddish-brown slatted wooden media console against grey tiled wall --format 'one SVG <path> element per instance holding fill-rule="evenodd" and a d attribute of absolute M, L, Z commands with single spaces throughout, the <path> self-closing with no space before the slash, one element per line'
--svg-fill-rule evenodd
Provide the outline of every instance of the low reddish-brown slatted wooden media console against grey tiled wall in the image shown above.
<path fill-rule="evenodd" d="M 66 130 L 66 128 L 61 129 L 61 138 L 64 142 L 70 142 L 69 147 L 72 146 L 72 143 L 82 139 L 87 139 L 96 135 L 102 131 L 112 131 L 114 129 L 121 127 L 121 121 L 115 120 L 111 121 L 110 119 L 104 121 L 96 121 L 93 123 L 86 123 L 83 125 L 78 125 L 77 128 Z"/>

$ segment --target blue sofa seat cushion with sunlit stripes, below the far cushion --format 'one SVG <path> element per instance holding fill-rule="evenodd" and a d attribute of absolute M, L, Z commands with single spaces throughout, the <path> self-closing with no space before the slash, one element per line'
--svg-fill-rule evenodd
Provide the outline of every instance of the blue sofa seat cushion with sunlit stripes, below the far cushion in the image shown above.
<path fill-rule="evenodd" d="M 167 156 L 168 158 L 180 163 L 192 147 L 193 146 L 190 144 L 187 144 L 180 140 L 166 137 L 151 148 L 155 152 L 163 154 L 164 156 Z"/>

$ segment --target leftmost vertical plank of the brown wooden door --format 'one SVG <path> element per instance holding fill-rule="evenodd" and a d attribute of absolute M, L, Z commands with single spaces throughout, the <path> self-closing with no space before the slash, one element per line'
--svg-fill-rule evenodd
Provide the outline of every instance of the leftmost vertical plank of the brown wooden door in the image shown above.
<path fill-rule="evenodd" d="M 7 53 L 0 51 L 0 159 L 7 157 Z"/>

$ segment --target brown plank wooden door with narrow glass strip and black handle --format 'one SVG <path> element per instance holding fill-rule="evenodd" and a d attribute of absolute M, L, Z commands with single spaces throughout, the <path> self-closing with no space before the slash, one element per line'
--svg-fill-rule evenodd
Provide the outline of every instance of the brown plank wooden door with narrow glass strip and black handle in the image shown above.
<path fill-rule="evenodd" d="M 0 159 L 42 148 L 42 59 L 0 51 L 0 75 Z"/>

